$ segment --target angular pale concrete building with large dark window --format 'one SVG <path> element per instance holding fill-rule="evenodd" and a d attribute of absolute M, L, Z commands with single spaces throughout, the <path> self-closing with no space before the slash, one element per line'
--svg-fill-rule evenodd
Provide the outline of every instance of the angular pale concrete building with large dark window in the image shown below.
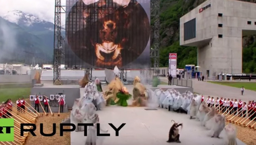
<path fill-rule="evenodd" d="M 198 47 L 199 71 L 242 73 L 242 37 L 256 34 L 256 4 L 208 0 L 180 18 L 180 45 Z"/>

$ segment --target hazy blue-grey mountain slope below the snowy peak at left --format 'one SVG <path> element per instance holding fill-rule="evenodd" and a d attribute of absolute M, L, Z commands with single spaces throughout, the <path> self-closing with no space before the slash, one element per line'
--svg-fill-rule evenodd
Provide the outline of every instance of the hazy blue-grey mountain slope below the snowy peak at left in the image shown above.
<path fill-rule="evenodd" d="M 39 61 L 52 60 L 52 51 L 44 39 L 21 26 L 0 17 L 0 63 L 23 62 L 30 64 L 32 57 Z"/>

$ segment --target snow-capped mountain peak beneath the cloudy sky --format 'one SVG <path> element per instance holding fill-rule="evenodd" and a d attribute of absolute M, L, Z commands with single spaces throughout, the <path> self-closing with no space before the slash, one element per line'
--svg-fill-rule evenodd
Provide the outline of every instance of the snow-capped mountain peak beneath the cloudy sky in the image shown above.
<path fill-rule="evenodd" d="M 41 20 L 32 14 L 25 14 L 19 10 L 9 11 L 3 18 L 30 31 L 53 31 L 54 29 L 53 23 Z"/>

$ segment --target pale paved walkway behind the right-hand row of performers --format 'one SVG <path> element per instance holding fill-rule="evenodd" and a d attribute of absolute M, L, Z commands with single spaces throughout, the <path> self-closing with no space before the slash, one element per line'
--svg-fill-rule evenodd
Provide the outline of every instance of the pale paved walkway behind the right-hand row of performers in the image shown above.
<path fill-rule="evenodd" d="M 166 77 L 160 77 L 161 81 L 168 82 Z M 249 100 L 256 101 L 256 91 L 245 90 L 244 95 L 241 95 L 240 88 L 229 87 L 226 85 L 219 85 L 209 82 L 203 82 L 193 79 L 194 92 L 203 94 L 205 97 L 224 97 L 242 99 L 248 102 Z"/>

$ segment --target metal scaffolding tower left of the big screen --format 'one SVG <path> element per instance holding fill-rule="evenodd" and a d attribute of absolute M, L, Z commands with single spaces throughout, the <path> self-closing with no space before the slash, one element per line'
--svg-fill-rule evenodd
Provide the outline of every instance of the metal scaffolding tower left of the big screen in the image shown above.
<path fill-rule="evenodd" d="M 65 61 L 64 38 L 61 36 L 61 13 L 65 10 L 61 6 L 61 0 L 55 0 L 55 18 L 54 18 L 54 48 L 53 48 L 53 83 L 55 80 L 61 80 L 61 63 Z M 61 12 L 61 9 L 64 12 Z M 65 63 L 64 63 L 65 64 Z"/>

